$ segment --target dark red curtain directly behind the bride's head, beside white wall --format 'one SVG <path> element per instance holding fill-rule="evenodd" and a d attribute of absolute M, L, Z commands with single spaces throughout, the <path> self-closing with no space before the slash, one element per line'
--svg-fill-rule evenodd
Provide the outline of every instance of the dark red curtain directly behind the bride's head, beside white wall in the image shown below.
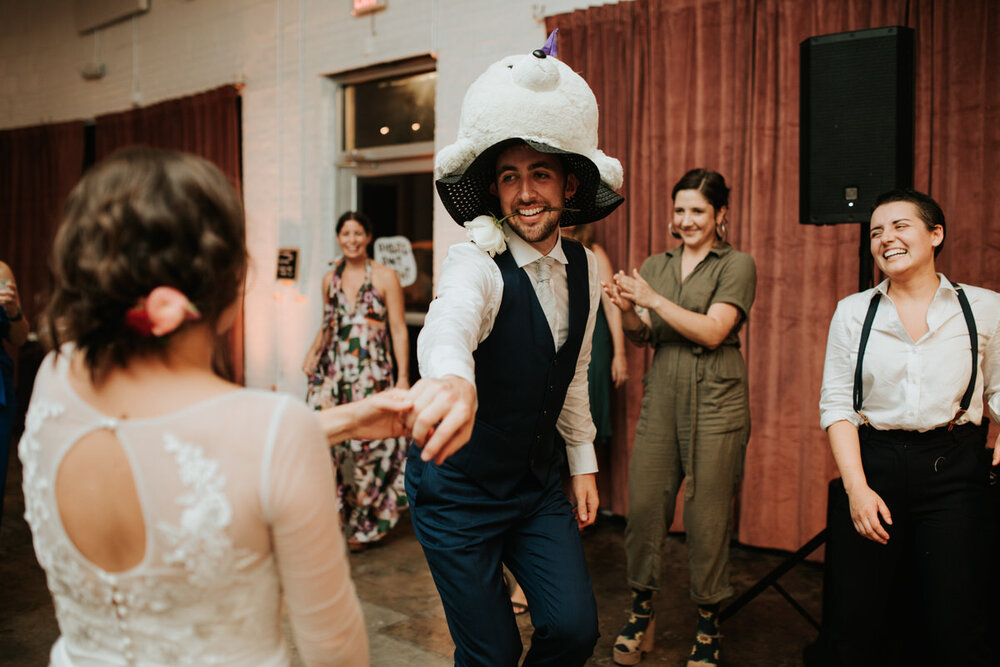
<path fill-rule="evenodd" d="M 148 107 L 98 116 L 94 143 L 98 160 L 118 148 L 142 144 L 194 153 L 217 166 L 242 192 L 240 89 L 222 86 Z M 243 382 L 243 311 L 227 334 L 220 372 Z"/>

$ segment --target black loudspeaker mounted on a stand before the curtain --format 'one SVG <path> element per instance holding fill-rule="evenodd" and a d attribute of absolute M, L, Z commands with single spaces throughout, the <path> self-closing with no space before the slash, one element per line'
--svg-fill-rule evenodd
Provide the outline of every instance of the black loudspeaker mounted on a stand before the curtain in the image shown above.
<path fill-rule="evenodd" d="M 799 221 L 866 222 L 913 185 L 913 30 L 810 37 L 800 46 Z"/>

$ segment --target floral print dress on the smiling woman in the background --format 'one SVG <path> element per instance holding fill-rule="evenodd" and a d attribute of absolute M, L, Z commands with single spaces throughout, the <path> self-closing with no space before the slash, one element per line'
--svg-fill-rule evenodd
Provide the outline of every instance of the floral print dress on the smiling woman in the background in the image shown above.
<path fill-rule="evenodd" d="M 323 307 L 323 346 L 309 375 L 306 402 L 316 410 L 350 403 L 393 385 L 388 309 L 372 285 L 372 264 L 354 303 L 344 294 L 344 262 L 334 269 Z M 406 438 L 348 440 L 334 445 L 337 497 L 347 539 L 381 539 L 406 508 Z"/>

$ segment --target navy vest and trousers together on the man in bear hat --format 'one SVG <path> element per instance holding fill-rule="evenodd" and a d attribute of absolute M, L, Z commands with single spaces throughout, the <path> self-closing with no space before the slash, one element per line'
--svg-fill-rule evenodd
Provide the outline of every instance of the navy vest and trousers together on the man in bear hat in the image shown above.
<path fill-rule="evenodd" d="M 569 331 L 555 350 L 534 288 L 510 253 L 490 335 L 474 353 L 472 438 L 442 465 L 411 447 L 410 517 L 441 595 L 462 667 L 516 665 L 521 638 L 501 563 L 524 589 L 535 633 L 525 665 L 583 665 L 597 611 L 576 520 L 560 481 L 556 421 L 576 371 L 590 308 L 587 257 L 563 241 Z"/>

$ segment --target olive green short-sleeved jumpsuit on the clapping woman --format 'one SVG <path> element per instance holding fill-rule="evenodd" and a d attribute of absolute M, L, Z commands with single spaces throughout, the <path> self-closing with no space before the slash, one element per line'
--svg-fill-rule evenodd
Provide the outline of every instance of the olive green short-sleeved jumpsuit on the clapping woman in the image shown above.
<path fill-rule="evenodd" d="M 757 273 L 750 255 L 716 245 L 681 281 L 681 250 L 647 259 L 639 273 L 670 301 L 696 313 L 714 303 L 740 311 L 740 324 L 715 350 L 677 333 L 650 311 L 653 363 L 629 467 L 625 550 L 629 584 L 660 588 L 663 539 L 681 481 L 691 598 L 713 604 L 732 595 L 729 540 L 732 499 L 750 436 L 747 375 L 737 333 L 754 299 Z"/>

